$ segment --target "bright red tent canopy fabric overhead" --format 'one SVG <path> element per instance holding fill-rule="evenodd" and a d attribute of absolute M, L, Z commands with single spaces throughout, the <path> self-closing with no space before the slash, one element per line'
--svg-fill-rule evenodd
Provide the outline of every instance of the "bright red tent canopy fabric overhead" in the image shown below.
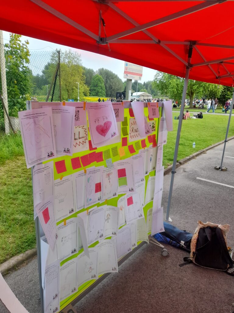
<path fill-rule="evenodd" d="M 0 29 L 232 86 L 233 12 L 228 0 L 12 0 Z"/>

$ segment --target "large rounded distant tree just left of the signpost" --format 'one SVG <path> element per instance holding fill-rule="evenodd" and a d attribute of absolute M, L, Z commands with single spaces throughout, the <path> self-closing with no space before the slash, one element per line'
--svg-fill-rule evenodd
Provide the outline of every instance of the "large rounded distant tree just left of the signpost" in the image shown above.
<path fill-rule="evenodd" d="M 98 74 L 104 80 L 106 97 L 115 97 L 116 91 L 123 91 L 123 82 L 118 75 L 104 68 L 99 69 Z"/>

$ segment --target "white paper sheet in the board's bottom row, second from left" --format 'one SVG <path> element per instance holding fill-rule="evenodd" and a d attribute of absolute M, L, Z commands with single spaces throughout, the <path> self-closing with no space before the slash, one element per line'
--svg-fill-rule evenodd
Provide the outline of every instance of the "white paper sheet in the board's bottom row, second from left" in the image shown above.
<path fill-rule="evenodd" d="M 74 294 L 77 289 L 77 258 L 75 258 L 60 268 L 60 301 Z"/>

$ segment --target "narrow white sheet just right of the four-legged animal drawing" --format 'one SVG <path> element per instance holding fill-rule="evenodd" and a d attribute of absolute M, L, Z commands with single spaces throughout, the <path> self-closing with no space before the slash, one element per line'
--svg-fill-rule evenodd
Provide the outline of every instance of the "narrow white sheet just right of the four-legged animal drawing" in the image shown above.
<path fill-rule="evenodd" d="M 73 174 L 76 183 L 76 211 L 85 207 L 86 173 L 83 171 Z"/>

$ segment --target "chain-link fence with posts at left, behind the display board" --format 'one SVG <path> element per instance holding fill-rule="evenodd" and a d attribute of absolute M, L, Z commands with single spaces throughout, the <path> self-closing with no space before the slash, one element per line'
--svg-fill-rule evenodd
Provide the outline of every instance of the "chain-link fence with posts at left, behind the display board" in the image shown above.
<path fill-rule="evenodd" d="M 0 44 L 0 49 L 4 49 L 3 44 Z M 0 63 L 1 68 L 4 67 L 3 61 Z M 24 95 L 18 98 L 12 97 L 15 93 L 7 84 L 8 76 L 11 74 L 12 77 L 12 73 L 6 69 L 6 79 L 1 75 L 0 131 L 5 131 L 7 134 L 20 130 L 18 111 L 26 110 L 26 100 L 61 101 L 60 51 L 31 52 L 29 61 L 27 79 L 22 79 L 26 84 Z M 22 84 L 22 82 L 18 80 L 16 84 Z"/>

